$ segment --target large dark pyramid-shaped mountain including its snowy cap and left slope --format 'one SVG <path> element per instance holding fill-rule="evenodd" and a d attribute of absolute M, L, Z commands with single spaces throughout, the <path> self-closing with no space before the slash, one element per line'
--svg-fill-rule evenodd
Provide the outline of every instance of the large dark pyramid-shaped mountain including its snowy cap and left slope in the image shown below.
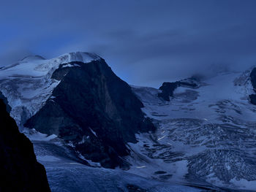
<path fill-rule="evenodd" d="M 155 129 L 129 85 L 92 53 L 26 57 L 1 68 L 0 83 L 20 130 L 55 134 L 104 167 L 128 167 L 126 143 Z"/>

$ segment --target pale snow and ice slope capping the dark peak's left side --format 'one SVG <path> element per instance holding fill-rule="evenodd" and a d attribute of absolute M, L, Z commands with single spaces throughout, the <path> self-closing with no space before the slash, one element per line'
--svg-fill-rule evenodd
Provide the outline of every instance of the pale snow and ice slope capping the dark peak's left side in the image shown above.
<path fill-rule="evenodd" d="M 73 61 L 89 63 L 98 59 L 98 55 L 82 52 L 67 53 L 52 59 L 35 55 L 23 58 L 17 64 L 1 67 L 0 91 L 7 97 L 12 107 L 10 114 L 20 130 L 23 129 L 23 123 L 45 104 L 59 84 L 58 80 L 50 77 L 61 64 Z M 72 63 L 61 67 L 72 66 L 80 65 Z"/>

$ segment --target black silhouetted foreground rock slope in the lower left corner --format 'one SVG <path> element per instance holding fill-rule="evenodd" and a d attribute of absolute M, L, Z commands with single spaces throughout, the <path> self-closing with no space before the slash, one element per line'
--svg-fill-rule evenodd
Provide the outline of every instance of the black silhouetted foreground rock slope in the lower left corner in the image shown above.
<path fill-rule="evenodd" d="M 0 99 L 0 191 L 50 191 L 44 166 L 37 162 L 32 143 L 20 134 Z"/>

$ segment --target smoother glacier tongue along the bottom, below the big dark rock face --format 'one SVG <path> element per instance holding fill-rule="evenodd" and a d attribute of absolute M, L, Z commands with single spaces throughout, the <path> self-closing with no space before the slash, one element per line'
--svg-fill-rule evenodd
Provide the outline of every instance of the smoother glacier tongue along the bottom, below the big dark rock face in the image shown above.
<path fill-rule="evenodd" d="M 62 142 L 33 141 L 37 160 L 45 166 L 53 192 L 124 192 L 137 188 L 148 192 L 199 192 L 198 188 L 148 180 L 123 170 L 104 169 L 83 164 Z"/>

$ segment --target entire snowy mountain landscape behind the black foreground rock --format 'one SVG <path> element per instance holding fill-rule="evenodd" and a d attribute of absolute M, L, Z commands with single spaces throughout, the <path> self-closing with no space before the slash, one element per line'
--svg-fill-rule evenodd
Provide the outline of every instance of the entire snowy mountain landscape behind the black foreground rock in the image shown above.
<path fill-rule="evenodd" d="M 255 74 L 131 88 L 98 55 L 36 55 L 1 67 L 0 98 L 53 191 L 253 191 Z"/>

